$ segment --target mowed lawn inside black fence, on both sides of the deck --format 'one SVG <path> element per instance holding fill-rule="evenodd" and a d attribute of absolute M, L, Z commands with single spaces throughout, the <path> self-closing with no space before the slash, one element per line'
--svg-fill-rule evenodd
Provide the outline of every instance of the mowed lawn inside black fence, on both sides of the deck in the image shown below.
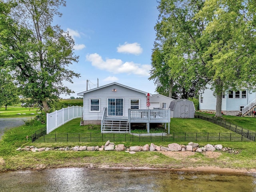
<path fill-rule="evenodd" d="M 86 125 L 80 126 L 80 118 L 76 118 L 67 122 L 66 124 L 55 129 L 55 133 L 100 133 L 100 125 Z M 168 126 L 167 126 L 168 129 Z M 145 126 L 146 130 L 146 126 Z M 230 133 L 230 130 L 225 129 L 221 126 L 213 124 L 211 122 L 192 118 L 192 119 L 182 119 L 182 118 L 171 118 L 170 123 L 170 134 L 172 132 L 215 132 L 215 133 Z"/>

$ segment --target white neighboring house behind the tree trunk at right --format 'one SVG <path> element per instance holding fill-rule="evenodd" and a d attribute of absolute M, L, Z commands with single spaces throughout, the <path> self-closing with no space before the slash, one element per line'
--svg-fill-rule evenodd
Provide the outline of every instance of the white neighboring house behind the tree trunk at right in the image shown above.
<path fill-rule="evenodd" d="M 254 110 L 256 104 L 256 93 L 242 88 L 236 91 L 228 90 L 222 94 L 222 112 L 225 115 L 246 115 Z M 204 93 L 199 96 L 199 110 L 216 111 L 216 96 L 207 85 Z"/>

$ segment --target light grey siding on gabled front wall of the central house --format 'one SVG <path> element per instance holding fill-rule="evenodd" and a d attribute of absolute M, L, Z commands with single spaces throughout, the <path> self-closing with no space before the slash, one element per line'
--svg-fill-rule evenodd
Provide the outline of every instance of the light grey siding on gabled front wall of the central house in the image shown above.
<path fill-rule="evenodd" d="M 116 92 L 112 91 L 116 89 Z M 90 98 L 100 99 L 100 112 L 90 112 Z M 130 99 L 140 99 L 140 109 L 146 109 L 146 95 L 116 84 L 84 94 L 84 120 L 101 120 L 108 98 L 124 99 L 124 116 L 128 117 Z"/>

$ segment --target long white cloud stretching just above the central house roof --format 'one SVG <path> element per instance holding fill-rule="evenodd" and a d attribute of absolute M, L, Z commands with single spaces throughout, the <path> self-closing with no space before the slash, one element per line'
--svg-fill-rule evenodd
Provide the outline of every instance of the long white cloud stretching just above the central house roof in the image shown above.
<path fill-rule="evenodd" d="M 135 74 L 139 76 L 149 76 L 151 65 L 141 65 L 134 62 L 122 62 L 120 59 L 106 59 L 105 61 L 102 57 L 97 54 L 87 54 L 86 60 L 92 63 L 92 66 L 95 66 L 101 70 L 106 70 L 114 74 L 118 73 L 127 73 Z"/>

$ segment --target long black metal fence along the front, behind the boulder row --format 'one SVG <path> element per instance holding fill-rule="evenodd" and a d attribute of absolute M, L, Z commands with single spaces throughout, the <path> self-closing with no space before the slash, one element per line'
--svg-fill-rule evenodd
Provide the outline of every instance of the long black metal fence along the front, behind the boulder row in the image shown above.
<path fill-rule="evenodd" d="M 175 142 L 175 141 L 250 141 L 243 135 L 230 133 L 176 133 L 155 136 L 153 133 L 137 134 L 129 133 L 55 133 L 38 137 L 32 142 Z"/>

